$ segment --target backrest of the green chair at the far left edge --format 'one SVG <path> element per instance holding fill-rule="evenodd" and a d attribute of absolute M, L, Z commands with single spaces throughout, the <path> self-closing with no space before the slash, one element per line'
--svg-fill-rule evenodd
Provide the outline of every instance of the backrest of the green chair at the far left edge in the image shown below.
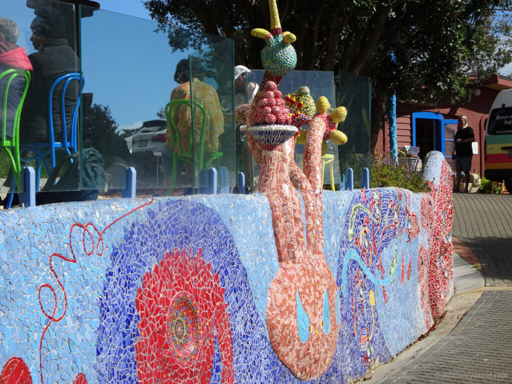
<path fill-rule="evenodd" d="M 9 111 L 9 90 L 11 90 L 11 96 L 13 90 L 11 88 L 11 84 L 16 79 L 16 77 L 23 77 L 25 85 L 16 99 L 14 100 L 16 109 L 14 111 Z M 4 85 L 4 88 L 0 88 L 0 92 L 2 92 L 2 105 L 0 105 L 0 111 L 2 112 L 0 115 L 0 128 L 2 133 L 2 140 L 0 146 L 15 146 L 18 143 L 19 138 L 19 117 L 22 113 L 23 102 L 25 100 L 25 95 L 27 94 L 27 89 L 29 87 L 30 82 L 30 72 L 18 69 L 8 69 L 2 73 L 0 73 L 0 84 Z M 12 100 L 11 100 L 12 101 Z M 12 108 L 12 107 L 11 107 Z M 12 121 L 8 119 L 8 116 L 12 117 Z"/>

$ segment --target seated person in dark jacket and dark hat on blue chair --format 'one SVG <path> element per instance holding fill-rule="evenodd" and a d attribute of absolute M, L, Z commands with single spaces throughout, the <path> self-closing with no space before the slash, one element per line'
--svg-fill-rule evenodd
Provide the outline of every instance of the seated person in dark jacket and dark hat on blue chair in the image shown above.
<path fill-rule="evenodd" d="M 65 38 L 65 23 L 58 9 L 37 10 L 30 29 L 32 30 L 30 41 L 37 52 L 29 55 L 33 72 L 20 119 L 20 142 L 47 142 L 49 140 L 47 111 L 50 88 L 58 77 L 77 72 L 78 57 Z M 59 98 L 62 85 L 62 82 L 58 84 L 52 97 L 55 140 L 60 140 L 62 133 Z M 65 96 L 68 136 L 70 136 L 73 109 L 77 100 L 78 83 L 71 81 Z"/>

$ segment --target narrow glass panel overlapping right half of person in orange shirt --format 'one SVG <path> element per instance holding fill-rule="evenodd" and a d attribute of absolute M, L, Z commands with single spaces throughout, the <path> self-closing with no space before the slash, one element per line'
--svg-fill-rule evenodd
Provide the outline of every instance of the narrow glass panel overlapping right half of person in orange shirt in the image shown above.
<path fill-rule="evenodd" d="M 204 107 L 192 112 L 195 175 L 201 169 L 226 167 L 228 184 L 236 183 L 235 131 L 233 114 L 233 45 L 224 40 L 189 56 L 191 99 Z M 184 84 L 182 84 L 183 86 Z M 178 122 L 180 125 L 180 122 Z M 201 132 L 204 130 L 204 134 Z M 219 178 L 219 181 L 222 178 Z M 207 178 L 195 185 L 208 186 Z"/>

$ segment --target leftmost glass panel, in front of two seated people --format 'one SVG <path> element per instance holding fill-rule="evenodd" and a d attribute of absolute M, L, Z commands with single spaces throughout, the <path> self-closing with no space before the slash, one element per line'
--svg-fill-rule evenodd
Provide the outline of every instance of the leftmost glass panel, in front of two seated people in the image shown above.
<path fill-rule="evenodd" d="M 76 28 L 75 6 L 51 0 L 0 0 L 1 17 L 8 18 L 16 23 L 17 28 L 5 38 L 0 46 L 0 54 L 12 51 L 15 60 L 0 58 L 0 72 L 6 69 L 30 70 L 30 83 L 25 96 L 19 117 L 19 140 L 21 165 L 31 165 L 36 168 L 35 159 L 39 159 L 43 166 L 40 172 L 40 186 L 53 190 L 72 190 L 80 186 L 78 161 L 74 166 L 69 160 L 63 160 L 69 153 L 76 152 L 76 125 L 73 124 L 74 115 L 78 113 L 79 84 L 75 79 L 64 79 L 56 82 L 63 75 L 78 72 L 78 57 L 76 54 Z M 17 33 L 19 31 L 19 33 Z M 22 49 L 18 49 L 22 47 Z M 28 55 L 28 57 L 27 57 Z M 7 83 L 0 80 L 0 94 L 6 95 L 5 116 L 10 128 L 11 145 L 16 140 L 13 132 L 13 123 L 16 119 L 15 109 L 22 99 L 25 80 L 18 76 L 7 89 Z M 7 77 L 3 77 L 7 80 Z M 17 83 L 17 80 L 20 83 Z M 56 84 L 51 89 L 53 84 Z M 5 93 L 7 91 L 7 94 Z M 51 97 L 50 97 L 51 94 Z M 3 96 L 2 96 L 3 97 Z M 64 102 L 61 102 L 61 97 Z M 50 108 L 52 113 L 49 114 Z M 3 105 L 3 104 L 2 104 Z M 76 110 L 76 112 L 75 112 Z M 61 116 L 65 115 L 63 119 Z M 4 115 L 4 111 L 2 111 Z M 7 124 L 6 124 L 7 125 Z M 3 130 L 2 130 L 3 131 Z M 66 132 L 66 135 L 64 134 Z M 53 140 L 51 136 L 53 134 Z M 9 135 L 9 133 L 7 134 Z M 54 143 L 55 151 L 50 150 L 50 143 Z M 10 145 L 4 146 L 9 147 Z M 55 153 L 54 156 L 52 154 Z M 6 151 L 0 151 L 0 190 L 5 193 L 13 187 L 13 178 L 8 176 L 11 161 Z M 13 153 L 15 159 L 17 155 Z M 16 160 L 15 160 L 16 162 Z M 59 167 L 59 162 L 62 168 Z M 70 166 L 65 174 L 64 169 Z M 53 175 L 56 184 L 48 182 L 51 169 L 60 169 Z M 6 180 L 7 179 L 7 180 Z M 14 180 L 16 177 L 14 178 Z"/>

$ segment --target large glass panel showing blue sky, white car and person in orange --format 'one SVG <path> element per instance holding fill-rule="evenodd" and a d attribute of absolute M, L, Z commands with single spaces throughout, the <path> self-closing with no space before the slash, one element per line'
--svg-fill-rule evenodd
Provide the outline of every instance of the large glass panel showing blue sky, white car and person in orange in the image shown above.
<path fill-rule="evenodd" d="M 80 32 L 81 68 L 87 79 L 82 143 L 103 156 L 106 190 L 125 187 L 126 166 L 135 168 L 138 190 L 159 189 L 156 194 L 167 194 L 171 185 L 202 186 L 201 167 L 227 167 L 234 185 L 233 122 L 223 116 L 224 110 L 232 110 L 231 40 L 174 27 L 162 32 L 150 20 L 104 10 L 82 18 Z M 203 136 L 199 110 L 190 112 L 187 105 L 178 105 L 169 116 L 177 132 L 167 129 L 169 110 L 164 109 L 173 99 L 204 106 Z M 191 126 L 195 135 L 189 147 Z M 219 152 L 222 156 L 211 159 Z"/>

